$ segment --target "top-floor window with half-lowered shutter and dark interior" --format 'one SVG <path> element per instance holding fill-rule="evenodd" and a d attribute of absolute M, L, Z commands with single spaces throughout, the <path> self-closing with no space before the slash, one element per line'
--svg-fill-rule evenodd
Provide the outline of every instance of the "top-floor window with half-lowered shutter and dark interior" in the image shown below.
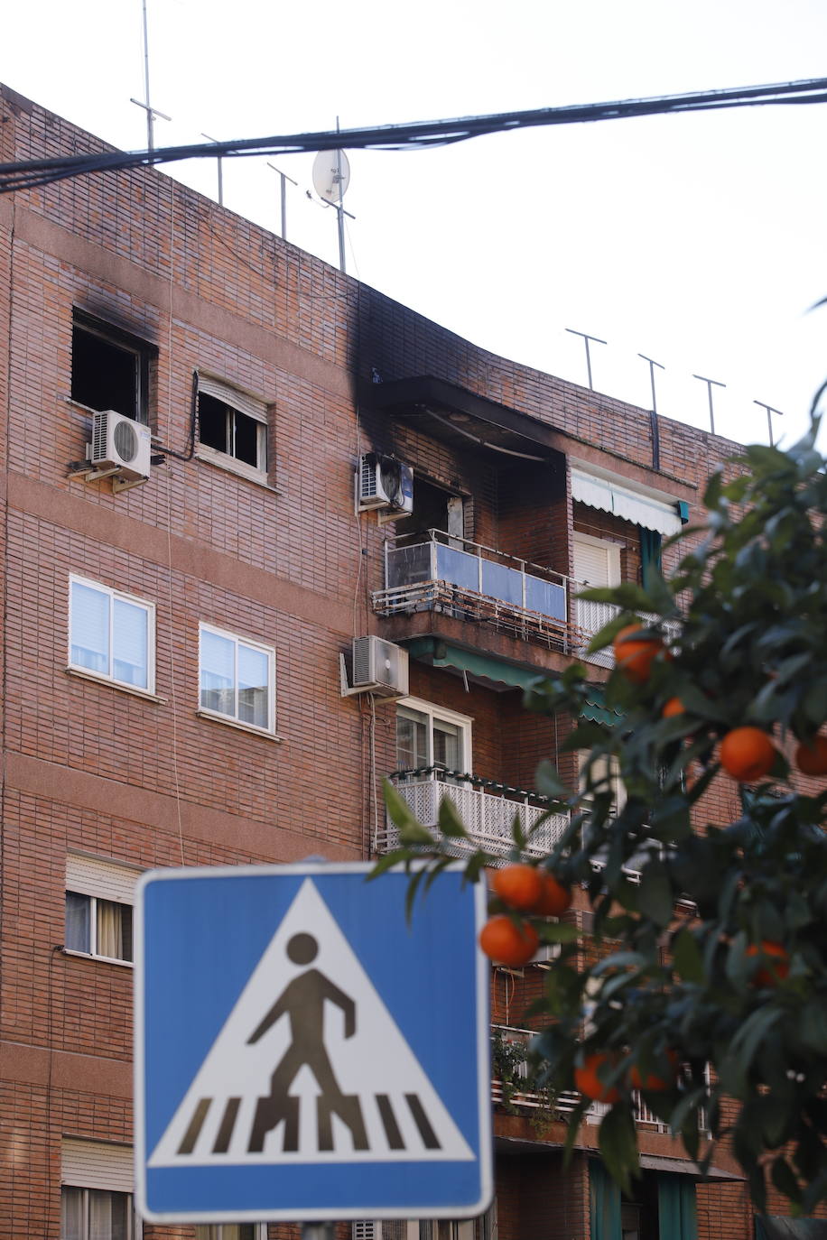
<path fill-rule="evenodd" d="M 214 379 L 198 378 L 198 455 L 267 481 L 267 407 Z"/>

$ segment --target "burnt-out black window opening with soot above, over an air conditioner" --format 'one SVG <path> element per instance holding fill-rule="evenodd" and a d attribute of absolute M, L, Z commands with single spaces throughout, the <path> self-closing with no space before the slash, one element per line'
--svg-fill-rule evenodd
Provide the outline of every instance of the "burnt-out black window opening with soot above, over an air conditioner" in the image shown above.
<path fill-rule="evenodd" d="M 151 345 L 88 315 L 72 325 L 72 399 L 149 422 Z"/>

